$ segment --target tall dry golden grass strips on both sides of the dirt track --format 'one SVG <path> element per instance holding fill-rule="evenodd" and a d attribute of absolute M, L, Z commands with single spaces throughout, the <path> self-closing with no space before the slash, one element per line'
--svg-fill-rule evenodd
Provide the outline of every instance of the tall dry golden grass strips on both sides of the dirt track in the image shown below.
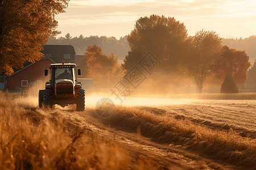
<path fill-rule="evenodd" d="M 0 91 L 0 169 L 152 168 L 113 139 L 99 137 L 67 118 L 51 116 L 53 110 L 39 109 L 32 100 Z M 232 129 L 213 130 L 167 114 L 125 107 L 108 121 L 136 131 L 139 127 L 142 136 L 159 143 L 181 145 L 245 169 L 256 169 L 256 141 L 242 138 Z"/>

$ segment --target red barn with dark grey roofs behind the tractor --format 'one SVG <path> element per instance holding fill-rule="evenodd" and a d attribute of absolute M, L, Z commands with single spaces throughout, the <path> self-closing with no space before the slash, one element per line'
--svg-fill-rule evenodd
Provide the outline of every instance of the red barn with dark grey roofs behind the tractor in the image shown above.
<path fill-rule="evenodd" d="M 72 45 L 44 45 L 41 51 L 44 57 L 34 63 L 25 62 L 22 69 L 14 70 L 14 74 L 1 76 L 0 84 L 6 90 L 39 90 L 49 80 L 44 76 L 44 70 L 51 63 L 75 63 L 75 49 Z"/>

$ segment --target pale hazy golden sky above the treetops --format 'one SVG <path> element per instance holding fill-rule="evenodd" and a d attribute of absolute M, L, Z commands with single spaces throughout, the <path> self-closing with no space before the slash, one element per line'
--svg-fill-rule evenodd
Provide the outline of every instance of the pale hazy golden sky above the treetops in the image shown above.
<path fill-rule="evenodd" d="M 135 21 L 152 14 L 171 16 L 184 23 L 188 35 L 215 31 L 221 37 L 243 39 L 256 35 L 256 0 L 71 0 L 64 14 L 56 16 L 61 35 L 114 36 L 134 29 Z"/>

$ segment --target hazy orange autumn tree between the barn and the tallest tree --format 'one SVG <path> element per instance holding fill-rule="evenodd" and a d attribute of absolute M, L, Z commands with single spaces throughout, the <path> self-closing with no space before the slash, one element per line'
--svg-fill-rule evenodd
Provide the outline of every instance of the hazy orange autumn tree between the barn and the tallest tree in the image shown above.
<path fill-rule="evenodd" d="M 88 46 L 85 53 L 86 66 L 88 66 L 87 78 L 93 78 L 96 87 L 106 88 L 113 86 L 124 75 L 124 71 L 118 63 L 118 56 L 113 53 L 110 56 L 102 53 L 96 44 Z"/>

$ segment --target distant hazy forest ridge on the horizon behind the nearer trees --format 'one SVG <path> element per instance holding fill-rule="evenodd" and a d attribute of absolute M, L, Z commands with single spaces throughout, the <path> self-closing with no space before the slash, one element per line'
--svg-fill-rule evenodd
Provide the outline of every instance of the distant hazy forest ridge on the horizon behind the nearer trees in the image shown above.
<path fill-rule="evenodd" d="M 55 36 L 49 36 L 47 44 L 49 45 L 63 45 L 69 44 L 73 45 L 76 54 L 84 55 L 86 48 L 90 45 L 97 44 L 102 49 L 102 53 L 110 54 L 114 53 L 119 57 L 119 60 L 125 59 L 126 54 L 130 51 L 130 46 L 127 41 L 127 35 L 120 37 L 117 40 L 115 37 L 106 37 L 106 36 L 90 36 L 84 37 L 82 34 L 80 36 L 72 37 L 69 33 L 64 37 L 56 38 Z M 256 36 L 250 36 L 245 39 L 231 39 L 227 38 L 221 39 L 222 45 L 229 46 L 229 48 L 237 50 L 245 50 L 248 56 L 250 56 L 250 62 L 253 63 L 256 59 Z"/>

